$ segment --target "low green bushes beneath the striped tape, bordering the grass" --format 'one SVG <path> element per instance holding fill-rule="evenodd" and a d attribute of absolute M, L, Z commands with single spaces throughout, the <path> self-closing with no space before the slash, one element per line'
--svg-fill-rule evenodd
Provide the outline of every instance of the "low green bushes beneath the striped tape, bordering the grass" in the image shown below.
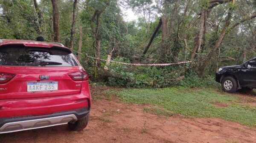
<path fill-rule="evenodd" d="M 128 59 L 118 57 L 114 59 L 117 62 L 130 63 Z M 217 83 L 213 76 L 199 78 L 195 72 L 187 74 L 182 81 L 174 79 L 180 77 L 185 72 L 184 67 L 133 67 L 125 64 L 110 64 L 110 72 L 119 75 L 121 78 L 110 77 L 108 85 L 122 87 L 207 87 L 215 86 Z"/>

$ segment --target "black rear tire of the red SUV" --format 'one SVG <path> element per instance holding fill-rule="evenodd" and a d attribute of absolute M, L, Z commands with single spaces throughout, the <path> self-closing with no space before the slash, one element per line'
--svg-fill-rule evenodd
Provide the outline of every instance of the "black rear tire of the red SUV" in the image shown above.
<path fill-rule="evenodd" d="M 68 123 L 68 127 L 71 131 L 81 131 L 88 125 L 88 122 L 89 115 L 86 115 L 84 118 L 81 118 L 76 122 Z"/>

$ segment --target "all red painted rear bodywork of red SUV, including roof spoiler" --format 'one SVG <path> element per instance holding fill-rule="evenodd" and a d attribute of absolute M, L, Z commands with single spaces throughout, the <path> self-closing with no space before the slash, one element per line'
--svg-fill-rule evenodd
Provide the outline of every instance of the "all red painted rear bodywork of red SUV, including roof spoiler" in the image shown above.
<path fill-rule="evenodd" d="M 62 47 L 55 43 L 25 40 L 3 40 L 3 45 L 22 44 L 32 47 Z M 79 64 L 80 65 L 80 64 Z M 0 66 L 0 72 L 15 77 L 0 84 L 0 118 L 30 115 L 48 115 L 54 112 L 90 107 L 91 96 L 88 81 L 74 81 L 68 73 L 83 69 L 73 67 Z M 43 81 L 40 75 L 49 75 L 46 81 L 58 81 L 58 90 L 27 92 L 27 82 Z"/>

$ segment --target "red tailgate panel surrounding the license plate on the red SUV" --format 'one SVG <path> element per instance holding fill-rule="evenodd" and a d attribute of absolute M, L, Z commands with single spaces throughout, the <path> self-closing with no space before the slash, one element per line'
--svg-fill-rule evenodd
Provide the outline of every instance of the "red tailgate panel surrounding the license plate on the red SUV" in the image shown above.
<path fill-rule="evenodd" d="M 33 98 L 58 95 L 72 95 L 81 92 L 82 81 L 73 81 L 68 73 L 81 70 L 82 67 L 22 67 L 22 66 L 0 66 L 0 71 L 15 74 L 15 77 L 6 84 L 0 84 L 0 99 Z M 58 91 L 28 93 L 26 89 L 29 81 L 43 81 L 40 75 L 49 75 L 47 81 L 58 81 Z"/>

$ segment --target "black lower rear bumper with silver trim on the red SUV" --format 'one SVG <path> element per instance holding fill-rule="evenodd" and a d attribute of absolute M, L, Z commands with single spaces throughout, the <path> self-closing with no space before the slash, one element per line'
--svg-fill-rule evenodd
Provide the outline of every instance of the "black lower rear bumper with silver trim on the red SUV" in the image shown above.
<path fill-rule="evenodd" d="M 86 107 L 49 115 L 0 118 L 0 134 L 67 124 L 87 116 L 89 111 Z"/>

